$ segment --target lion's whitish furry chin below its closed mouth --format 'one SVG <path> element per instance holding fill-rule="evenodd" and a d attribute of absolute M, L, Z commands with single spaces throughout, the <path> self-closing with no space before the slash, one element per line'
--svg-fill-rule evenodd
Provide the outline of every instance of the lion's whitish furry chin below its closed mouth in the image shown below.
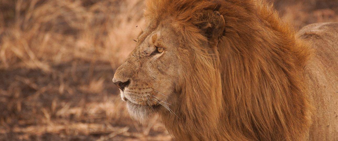
<path fill-rule="evenodd" d="M 152 117 L 160 107 L 161 105 L 144 106 L 127 101 L 127 108 L 130 116 L 139 121 L 141 124 L 147 123 L 149 117 Z"/>

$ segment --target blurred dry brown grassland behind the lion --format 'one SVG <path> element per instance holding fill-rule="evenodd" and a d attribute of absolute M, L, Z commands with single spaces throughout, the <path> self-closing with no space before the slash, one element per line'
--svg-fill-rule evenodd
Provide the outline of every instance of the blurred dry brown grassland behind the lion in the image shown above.
<path fill-rule="evenodd" d="M 337 0 L 268 0 L 298 30 Z M 171 140 L 130 119 L 114 71 L 144 28 L 143 0 L 0 0 L 0 140 Z"/>

